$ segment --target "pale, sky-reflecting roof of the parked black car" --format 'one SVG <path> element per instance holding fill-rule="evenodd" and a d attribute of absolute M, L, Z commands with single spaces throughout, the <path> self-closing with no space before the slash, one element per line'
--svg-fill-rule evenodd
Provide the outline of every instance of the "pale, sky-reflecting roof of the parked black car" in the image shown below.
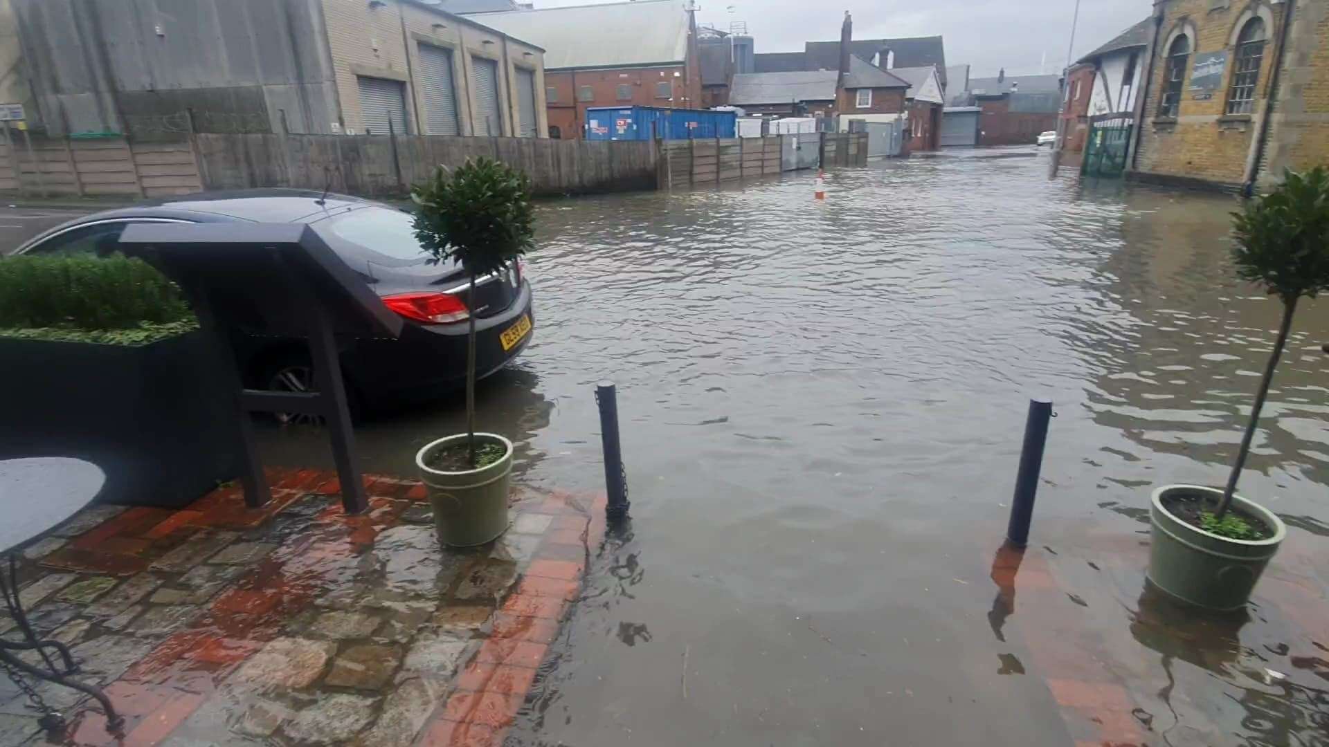
<path fill-rule="evenodd" d="M 69 230 L 82 223 L 124 218 L 175 218 L 181 221 L 253 221 L 255 223 L 312 223 L 334 214 L 361 207 L 393 207 L 372 199 L 347 194 L 323 193 L 311 189 L 242 189 L 222 191 L 199 191 L 163 197 L 81 215 L 25 241 L 15 254 L 23 254 L 29 246 L 47 237 Z"/>

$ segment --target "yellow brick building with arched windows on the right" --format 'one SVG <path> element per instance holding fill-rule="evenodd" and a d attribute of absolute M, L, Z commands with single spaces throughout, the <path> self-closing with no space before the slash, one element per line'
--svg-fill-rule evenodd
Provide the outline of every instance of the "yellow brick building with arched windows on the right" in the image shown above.
<path fill-rule="evenodd" d="M 1134 178 L 1245 191 L 1329 158 L 1329 0 L 1154 9 Z"/>

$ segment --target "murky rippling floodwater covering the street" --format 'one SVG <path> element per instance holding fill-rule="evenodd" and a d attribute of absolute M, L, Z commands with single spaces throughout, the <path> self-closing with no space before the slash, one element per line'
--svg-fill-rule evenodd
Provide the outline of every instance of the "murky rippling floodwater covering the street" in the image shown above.
<path fill-rule="evenodd" d="M 536 342 L 480 424 L 521 481 L 599 490 L 615 381 L 633 522 L 509 744 L 1329 744 L 1329 300 L 1241 481 L 1284 552 L 1249 613 L 1176 607 L 1144 587 L 1150 490 L 1223 482 L 1280 308 L 1233 279 L 1232 198 L 991 156 L 843 169 L 824 203 L 811 173 L 542 203 Z M 460 427 L 460 400 L 364 424 L 364 467 L 409 475 Z M 264 435 L 300 465 L 319 443 Z M 1131 723 L 1076 722 L 1066 682 L 1120 686 Z"/>

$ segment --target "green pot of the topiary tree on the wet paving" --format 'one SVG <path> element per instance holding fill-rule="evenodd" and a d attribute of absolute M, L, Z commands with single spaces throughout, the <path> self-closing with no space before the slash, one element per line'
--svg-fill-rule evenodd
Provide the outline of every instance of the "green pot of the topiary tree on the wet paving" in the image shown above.
<path fill-rule="evenodd" d="M 420 481 L 433 504 L 439 542 L 451 548 L 484 545 L 508 529 L 508 485 L 512 475 L 512 441 L 494 433 L 476 433 L 478 443 L 502 444 L 502 459 L 480 469 L 444 472 L 428 465 L 440 449 L 466 441 L 460 433 L 439 439 L 416 452 Z"/>

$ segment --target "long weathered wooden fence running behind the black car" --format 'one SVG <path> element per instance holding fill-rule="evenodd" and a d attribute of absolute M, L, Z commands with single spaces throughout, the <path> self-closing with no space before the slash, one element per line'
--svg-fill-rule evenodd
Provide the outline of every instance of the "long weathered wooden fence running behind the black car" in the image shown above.
<path fill-rule="evenodd" d="M 688 141 L 504 137 L 219 134 L 178 142 L 45 138 L 8 130 L 0 191 L 24 197 L 137 195 L 247 187 L 400 197 L 436 165 L 489 156 L 522 169 L 537 194 L 651 190 L 779 174 L 781 136 Z M 791 136 L 783 136 L 791 137 Z M 867 162 L 867 136 L 824 133 L 821 165 Z"/>

